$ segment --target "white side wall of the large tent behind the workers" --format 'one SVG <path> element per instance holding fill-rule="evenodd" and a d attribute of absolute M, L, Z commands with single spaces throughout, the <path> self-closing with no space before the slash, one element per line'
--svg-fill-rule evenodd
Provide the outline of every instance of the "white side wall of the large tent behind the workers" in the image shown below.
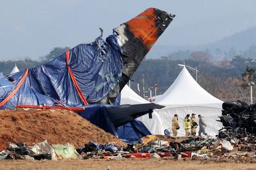
<path fill-rule="evenodd" d="M 178 130 L 178 136 L 184 136 L 184 118 L 187 114 L 191 115 L 192 113 L 196 113 L 196 120 L 198 122 L 198 115 L 202 115 L 205 120 L 205 124 L 207 125 L 205 132 L 211 136 L 215 136 L 218 134 L 218 130 L 222 127 L 221 122 L 217 122 L 216 120 L 220 120 L 218 116 L 220 116 L 221 108 L 209 108 L 209 106 L 175 106 L 173 108 L 166 108 L 162 110 L 156 110 L 161 117 L 162 127 L 163 129 L 169 129 L 172 132 L 172 118 L 175 114 L 179 116 L 179 125 L 180 129 Z M 196 134 L 198 134 L 199 127 L 196 129 Z"/>

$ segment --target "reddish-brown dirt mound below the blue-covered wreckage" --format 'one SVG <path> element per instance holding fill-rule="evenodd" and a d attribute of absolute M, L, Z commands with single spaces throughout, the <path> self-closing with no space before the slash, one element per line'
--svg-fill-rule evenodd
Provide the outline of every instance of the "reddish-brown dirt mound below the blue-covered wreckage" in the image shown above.
<path fill-rule="evenodd" d="M 122 145 L 112 134 L 67 110 L 0 110 L 0 151 L 8 142 L 34 145 L 45 139 L 75 146 L 89 141 Z"/>

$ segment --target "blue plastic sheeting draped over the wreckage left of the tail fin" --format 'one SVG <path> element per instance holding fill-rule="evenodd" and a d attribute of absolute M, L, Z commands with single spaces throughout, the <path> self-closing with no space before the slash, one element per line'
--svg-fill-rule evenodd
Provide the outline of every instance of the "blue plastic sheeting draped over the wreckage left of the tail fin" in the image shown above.
<path fill-rule="evenodd" d="M 74 74 L 79 89 L 88 103 L 95 103 L 113 90 L 122 76 L 122 58 L 115 35 L 106 41 L 101 37 L 92 43 L 80 44 L 70 50 L 69 62 L 66 53 L 41 66 L 29 69 L 18 92 L 1 109 L 12 109 L 19 104 L 36 106 L 59 106 L 56 99 L 66 106 L 83 106 L 67 65 Z M 15 81 L 6 81 L 0 76 L 0 102 L 19 84 L 23 72 L 12 74 Z"/>

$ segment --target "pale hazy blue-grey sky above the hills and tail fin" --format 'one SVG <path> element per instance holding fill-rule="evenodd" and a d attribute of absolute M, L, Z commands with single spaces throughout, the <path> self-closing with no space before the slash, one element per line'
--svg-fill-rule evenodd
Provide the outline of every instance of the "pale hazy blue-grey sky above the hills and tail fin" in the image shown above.
<path fill-rule="evenodd" d="M 149 7 L 174 13 L 158 45 L 201 45 L 256 25 L 256 1 L 0 0 L 0 60 L 40 59 L 93 41 Z M 154 48 L 152 48 L 154 50 Z"/>

